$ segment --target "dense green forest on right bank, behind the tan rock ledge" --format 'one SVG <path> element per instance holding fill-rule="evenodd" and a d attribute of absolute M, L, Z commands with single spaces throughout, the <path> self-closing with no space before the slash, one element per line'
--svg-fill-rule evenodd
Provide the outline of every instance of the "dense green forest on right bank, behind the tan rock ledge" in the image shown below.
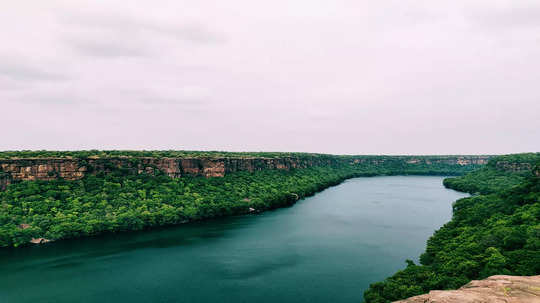
<path fill-rule="evenodd" d="M 531 170 L 508 171 L 498 162 L 525 163 Z M 453 205 L 450 222 L 428 240 L 420 265 L 374 283 L 368 303 L 391 302 L 455 289 L 494 274 L 540 274 L 540 154 L 500 156 L 474 172 L 445 180 L 445 186 L 473 193 Z M 536 174 L 534 173 L 536 172 Z"/>

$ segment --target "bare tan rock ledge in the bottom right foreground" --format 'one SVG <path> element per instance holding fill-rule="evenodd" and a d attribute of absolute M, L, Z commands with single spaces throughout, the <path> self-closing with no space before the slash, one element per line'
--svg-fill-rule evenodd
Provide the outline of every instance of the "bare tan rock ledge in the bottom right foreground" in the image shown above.
<path fill-rule="evenodd" d="M 432 290 L 401 303 L 540 303 L 540 276 L 491 276 L 458 290 Z"/>

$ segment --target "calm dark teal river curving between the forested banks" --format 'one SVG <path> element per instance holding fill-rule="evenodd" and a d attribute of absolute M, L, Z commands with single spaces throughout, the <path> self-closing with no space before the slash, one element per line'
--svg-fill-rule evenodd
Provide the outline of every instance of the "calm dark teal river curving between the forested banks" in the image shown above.
<path fill-rule="evenodd" d="M 417 260 L 465 194 L 356 178 L 290 208 L 0 250 L 0 302 L 361 302 Z"/>

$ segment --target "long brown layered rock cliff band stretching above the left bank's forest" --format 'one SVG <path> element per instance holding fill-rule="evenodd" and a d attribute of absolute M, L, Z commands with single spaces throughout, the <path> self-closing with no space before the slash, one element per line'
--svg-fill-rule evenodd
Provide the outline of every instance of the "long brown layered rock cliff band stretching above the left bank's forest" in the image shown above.
<path fill-rule="evenodd" d="M 63 178 L 77 180 L 86 174 L 111 172 L 122 169 L 130 174 L 143 172 L 154 174 L 161 171 L 172 178 L 183 176 L 222 177 L 238 171 L 264 169 L 308 168 L 337 165 L 384 165 L 402 162 L 404 165 L 483 165 L 489 156 L 360 156 L 360 157 L 283 157 L 283 158 L 24 158 L 0 159 L 0 189 L 13 181 L 53 180 Z"/>

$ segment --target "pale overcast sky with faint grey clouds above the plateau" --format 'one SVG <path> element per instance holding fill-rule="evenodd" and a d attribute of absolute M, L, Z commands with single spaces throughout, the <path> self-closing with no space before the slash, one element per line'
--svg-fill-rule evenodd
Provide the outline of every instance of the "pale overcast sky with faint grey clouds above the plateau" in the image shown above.
<path fill-rule="evenodd" d="M 0 150 L 540 151 L 537 0 L 0 6 Z"/>

